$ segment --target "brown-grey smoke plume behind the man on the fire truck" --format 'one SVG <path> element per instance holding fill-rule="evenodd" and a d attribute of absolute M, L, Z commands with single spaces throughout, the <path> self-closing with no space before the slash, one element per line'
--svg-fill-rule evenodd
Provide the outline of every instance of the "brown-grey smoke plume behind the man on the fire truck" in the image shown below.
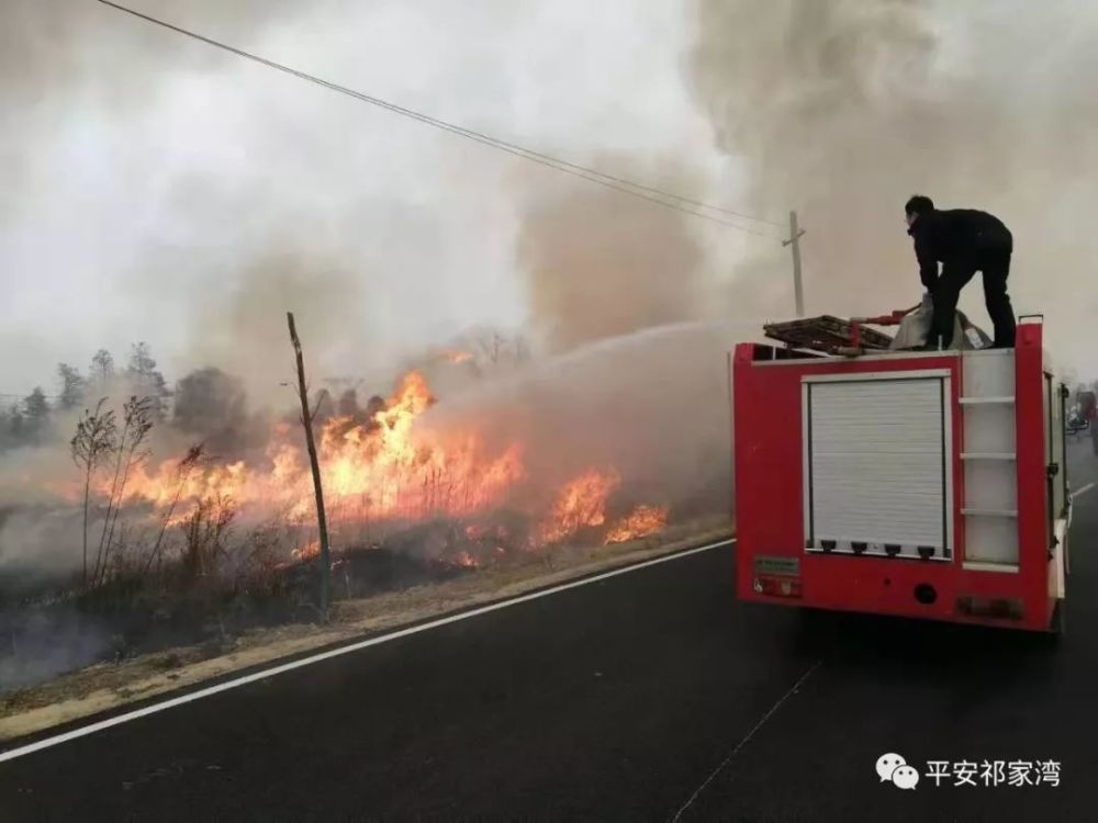
<path fill-rule="evenodd" d="M 956 8 L 954 8 L 956 7 Z M 963 8 L 962 8 L 963 7 Z M 1078 329 L 1098 253 L 1098 29 L 1069 0 L 694 0 L 696 95 L 718 145 L 752 176 L 763 214 L 800 211 L 809 314 L 911 305 L 921 286 L 903 203 L 1000 215 L 1016 238 L 1016 311 L 1049 317 L 1050 346 L 1087 371 Z M 1050 48 L 1050 44 L 1056 44 Z M 787 278 L 785 260 L 744 281 Z M 778 314 L 761 289 L 761 311 Z M 986 323 L 978 284 L 962 307 Z M 1091 370 L 1093 371 L 1093 370 Z"/>

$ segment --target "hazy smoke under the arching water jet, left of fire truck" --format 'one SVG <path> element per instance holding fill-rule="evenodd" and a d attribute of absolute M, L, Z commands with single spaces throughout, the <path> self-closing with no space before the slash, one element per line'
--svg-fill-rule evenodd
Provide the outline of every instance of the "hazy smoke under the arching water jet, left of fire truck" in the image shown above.
<path fill-rule="evenodd" d="M 616 470 L 635 501 L 731 510 L 727 329 L 664 326 L 580 346 L 440 404 L 430 426 L 525 444 L 539 487 Z"/>

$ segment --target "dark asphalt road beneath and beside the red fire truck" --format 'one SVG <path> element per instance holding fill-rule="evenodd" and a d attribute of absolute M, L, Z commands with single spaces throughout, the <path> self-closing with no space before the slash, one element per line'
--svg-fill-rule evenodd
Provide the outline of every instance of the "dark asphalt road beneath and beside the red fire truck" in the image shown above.
<path fill-rule="evenodd" d="M 1056 643 L 743 606 L 726 546 L 0 763 L 0 821 L 1095 820 L 1096 535 L 1098 489 Z M 901 791 L 885 752 L 1060 785 Z"/>

